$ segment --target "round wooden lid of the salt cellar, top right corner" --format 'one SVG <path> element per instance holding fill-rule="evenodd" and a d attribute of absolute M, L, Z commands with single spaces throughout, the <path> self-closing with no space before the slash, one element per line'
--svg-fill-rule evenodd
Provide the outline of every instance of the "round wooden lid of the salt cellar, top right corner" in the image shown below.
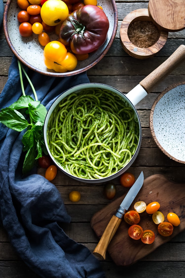
<path fill-rule="evenodd" d="M 148 14 L 163 31 L 176 32 L 185 28 L 185 0 L 149 0 Z"/>

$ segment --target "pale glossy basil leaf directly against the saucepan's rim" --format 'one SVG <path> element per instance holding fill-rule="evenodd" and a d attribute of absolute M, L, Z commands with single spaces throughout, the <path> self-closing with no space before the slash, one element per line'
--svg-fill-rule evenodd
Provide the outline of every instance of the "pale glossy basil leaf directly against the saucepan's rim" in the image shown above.
<path fill-rule="evenodd" d="M 32 101 L 28 105 L 28 111 L 30 118 L 35 122 L 41 122 L 44 124 L 47 110 L 44 105 L 40 104 L 40 101 Z"/>

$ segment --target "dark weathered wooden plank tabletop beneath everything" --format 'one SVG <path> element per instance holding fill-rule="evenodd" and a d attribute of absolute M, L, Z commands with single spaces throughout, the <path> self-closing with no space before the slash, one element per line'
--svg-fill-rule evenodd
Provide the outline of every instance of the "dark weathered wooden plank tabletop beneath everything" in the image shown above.
<path fill-rule="evenodd" d="M 5 2 L 4 2 L 5 3 Z M 119 41 L 119 30 L 121 21 L 126 14 L 139 8 L 147 8 L 148 1 L 125 0 L 116 1 L 119 15 L 118 31 L 116 38 L 107 55 L 93 68 L 88 70 L 91 82 L 111 85 L 123 93 L 127 93 L 136 86 L 146 75 L 148 75 L 159 64 L 165 61 L 180 44 L 184 44 L 185 30 L 169 33 L 167 43 L 163 49 L 153 58 L 139 60 L 132 58 L 122 49 Z M 0 31 L 0 90 L 2 91 L 7 78 L 8 69 L 12 59 L 4 37 L 3 29 Z M 176 68 L 152 93 L 146 96 L 137 106 L 142 125 L 142 145 L 138 157 L 129 171 L 137 177 L 141 170 L 144 177 L 161 173 L 174 182 L 185 181 L 185 164 L 174 162 L 166 157 L 156 146 L 149 129 L 149 115 L 151 106 L 158 96 L 169 85 L 185 81 L 185 63 Z M 44 175 L 42 169 L 38 173 Z M 113 182 L 117 186 L 116 197 L 125 193 L 119 179 Z M 79 183 L 58 171 L 53 183 L 57 186 L 64 199 L 67 212 L 72 221 L 64 230 L 77 242 L 87 246 L 91 251 L 95 248 L 98 239 L 90 226 L 92 216 L 110 203 L 103 196 L 103 184 L 86 185 Z M 69 192 L 78 190 L 81 200 L 77 203 L 69 201 Z M 184 195 L 185 192 L 182 192 Z M 185 232 L 176 236 L 173 240 L 162 245 L 150 255 L 138 261 L 134 266 L 117 267 L 109 256 L 101 262 L 107 278 L 131 278 L 131 277 L 163 277 L 179 278 L 185 277 Z M 31 278 L 38 277 L 17 257 L 9 243 L 4 229 L 0 228 L 0 278 Z M 67 277 L 66 277 L 67 278 Z"/>

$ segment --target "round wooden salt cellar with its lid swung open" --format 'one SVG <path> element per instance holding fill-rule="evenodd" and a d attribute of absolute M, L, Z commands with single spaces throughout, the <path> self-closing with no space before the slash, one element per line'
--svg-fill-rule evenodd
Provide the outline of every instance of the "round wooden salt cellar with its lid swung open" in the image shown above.
<path fill-rule="evenodd" d="M 165 45 L 168 32 L 176 32 L 185 28 L 185 1 L 149 0 L 148 9 L 137 9 L 129 13 L 120 27 L 120 42 L 130 56 L 146 59 L 154 56 Z M 128 28 L 135 21 L 150 21 L 158 28 L 159 36 L 156 42 L 146 48 L 134 45 L 128 38 Z"/>

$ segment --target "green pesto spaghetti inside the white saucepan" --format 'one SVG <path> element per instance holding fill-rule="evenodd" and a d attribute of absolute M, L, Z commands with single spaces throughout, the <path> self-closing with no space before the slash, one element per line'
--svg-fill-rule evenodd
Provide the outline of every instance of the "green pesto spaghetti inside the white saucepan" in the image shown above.
<path fill-rule="evenodd" d="M 133 109 L 105 89 L 88 88 L 66 96 L 48 122 L 52 156 L 80 178 L 98 179 L 118 172 L 130 161 L 138 141 Z"/>

